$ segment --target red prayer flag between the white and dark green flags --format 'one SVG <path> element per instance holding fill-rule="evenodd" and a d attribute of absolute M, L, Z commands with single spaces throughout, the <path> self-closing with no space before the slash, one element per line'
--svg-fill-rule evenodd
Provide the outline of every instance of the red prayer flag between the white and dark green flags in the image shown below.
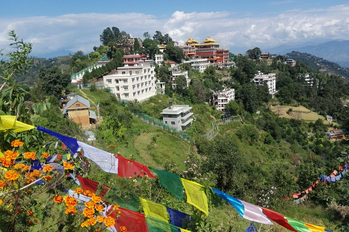
<path fill-rule="evenodd" d="M 122 156 L 117 156 L 118 159 L 118 175 L 120 177 L 138 177 L 138 176 L 148 176 L 156 178 L 150 173 L 147 166 L 138 163 L 133 160 L 128 160 Z"/>

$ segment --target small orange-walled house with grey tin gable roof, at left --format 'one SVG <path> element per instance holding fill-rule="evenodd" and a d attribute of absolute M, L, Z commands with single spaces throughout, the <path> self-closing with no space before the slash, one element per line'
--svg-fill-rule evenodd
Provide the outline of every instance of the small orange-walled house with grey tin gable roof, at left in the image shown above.
<path fill-rule="evenodd" d="M 81 124 L 82 127 L 90 126 L 97 120 L 95 111 L 90 110 L 90 102 L 75 95 L 64 107 L 63 115 L 67 116 L 75 123 Z"/>

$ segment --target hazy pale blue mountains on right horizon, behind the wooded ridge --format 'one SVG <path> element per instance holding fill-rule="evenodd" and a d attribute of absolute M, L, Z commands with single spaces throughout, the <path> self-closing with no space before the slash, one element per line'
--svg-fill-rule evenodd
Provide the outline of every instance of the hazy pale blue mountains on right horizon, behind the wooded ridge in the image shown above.
<path fill-rule="evenodd" d="M 344 68 L 349 68 L 349 40 L 329 41 L 318 45 L 281 45 L 278 47 L 264 49 L 270 54 L 285 55 L 292 51 L 312 54 L 316 57 L 333 61 Z"/>

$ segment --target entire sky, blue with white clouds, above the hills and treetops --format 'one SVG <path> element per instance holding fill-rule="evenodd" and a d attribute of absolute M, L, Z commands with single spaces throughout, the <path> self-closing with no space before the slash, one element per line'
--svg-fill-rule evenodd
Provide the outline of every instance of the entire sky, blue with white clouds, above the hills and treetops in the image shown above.
<path fill-rule="evenodd" d="M 232 53 L 349 38 L 348 0 L 0 0 L 0 48 L 10 30 L 33 44 L 32 56 L 90 52 L 117 27 L 143 39 L 156 30 L 183 43 L 211 36 Z"/>

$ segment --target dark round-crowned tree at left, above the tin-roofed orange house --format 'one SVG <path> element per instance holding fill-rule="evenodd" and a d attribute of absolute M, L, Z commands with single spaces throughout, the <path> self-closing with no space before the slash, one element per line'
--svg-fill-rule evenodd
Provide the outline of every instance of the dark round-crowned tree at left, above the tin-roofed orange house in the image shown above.
<path fill-rule="evenodd" d="M 55 97 L 60 97 L 63 89 L 70 83 L 69 75 L 63 73 L 63 71 L 57 67 L 40 69 L 39 78 L 46 94 Z"/>

